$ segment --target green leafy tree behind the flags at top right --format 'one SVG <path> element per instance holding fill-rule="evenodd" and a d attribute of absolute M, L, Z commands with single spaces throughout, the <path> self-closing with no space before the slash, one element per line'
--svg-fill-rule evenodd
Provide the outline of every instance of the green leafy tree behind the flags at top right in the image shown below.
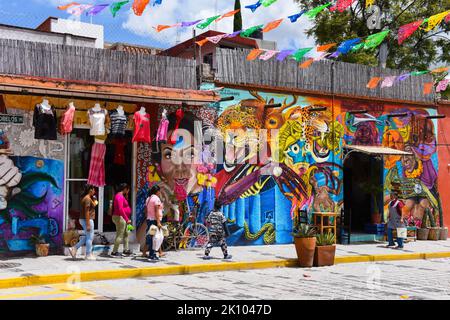
<path fill-rule="evenodd" d="M 302 9 L 311 9 L 329 0 L 294 0 Z M 428 18 L 450 9 L 450 0 L 375 0 L 383 13 L 381 29 L 389 28 L 387 67 L 405 70 L 427 70 L 450 62 L 450 23 L 442 22 L 432 31 L 418 29 L 402 45 L 397 42 L 400 26 Z M 370 14 L 365 0 L 357 0 L 344 12 L 325 10 L 314 20 L 307 31 L 318 44 L 340 43 L 353 38 L 365 38 L 381 30 L 369 30 Z M 423 26 L 422 26 L 423 27 Z M 378 65 L 379 48 L 359 50 L 339 57 L 339 60 L 365 65 Z"/>

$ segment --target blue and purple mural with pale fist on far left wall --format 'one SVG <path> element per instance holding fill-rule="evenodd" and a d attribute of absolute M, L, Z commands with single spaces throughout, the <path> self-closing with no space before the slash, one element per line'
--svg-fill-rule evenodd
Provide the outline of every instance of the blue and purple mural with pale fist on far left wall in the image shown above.
<path fill-rule="evenodd" d="M 0 162 L 0 251 L 34 251 L 29 241 L 33 234 L 45 237 L 51 248 L 60 248 L 63 162 L 6 155 L 0 155 Z"/>

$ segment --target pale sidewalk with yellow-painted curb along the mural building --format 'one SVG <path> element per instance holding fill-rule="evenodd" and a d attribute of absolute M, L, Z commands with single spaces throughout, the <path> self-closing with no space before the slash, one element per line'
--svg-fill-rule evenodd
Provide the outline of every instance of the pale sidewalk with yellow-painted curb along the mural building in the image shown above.
<path fill-rule="evenodd" d="M 417 241 L 403 250 L 386 249 L 384 243 L 337 245 L 336 264 L 386 260 L 450 258 L 450 240 Z M 211 252 L 213 259 L 203 260 L 203 250 L 170 251 L 158 262 L 140 257 L 111 258 L 97 247 L 97 261 L 70 256 L 0 259 L 0 288 L 63 283 L 69 278 L 80 281 L 123 279 L 212 271 L 295 267 L 294 245 L 229 247 L 231 261 L 222 260 L 220 248 Z M 81 250 L 80 250 L 81 251 Z"/>

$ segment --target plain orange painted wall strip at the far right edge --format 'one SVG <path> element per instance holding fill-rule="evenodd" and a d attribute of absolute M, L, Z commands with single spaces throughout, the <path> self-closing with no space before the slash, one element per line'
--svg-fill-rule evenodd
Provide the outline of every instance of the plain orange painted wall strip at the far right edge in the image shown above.
<path fill-rule="evenodd" d="M 444 212 L 444 225 L 450 226 L 450 107 L 439 107 L 439 114 L 445 114 L 445 119 L 438 120 L 438 155 L 439 177 L 438 188 Z"/>

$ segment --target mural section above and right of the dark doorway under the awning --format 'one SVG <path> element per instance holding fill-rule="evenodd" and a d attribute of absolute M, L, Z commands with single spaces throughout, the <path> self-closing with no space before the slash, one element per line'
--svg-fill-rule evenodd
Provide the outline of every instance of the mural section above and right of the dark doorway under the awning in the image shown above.
<path fill-rule="evenodd" d="M 388 216 L 389 194 L 396 191 L 405 201 L 409 223 L 420 227 L 422 222 L 436 226 L 442 220 L 439 194 L 437 192 L 437 153 L 435 125 L 425 117 L 434 112 L 426 109 L 398 108 L 396 113 L 406 117 L 389 118 L 390 107 L 378 112 L 377 117 L 346 116 L 348 130 L 346 143 L 378 145 L 408 152 L 409 155 L 384 157 L 385 219 Z"/>

